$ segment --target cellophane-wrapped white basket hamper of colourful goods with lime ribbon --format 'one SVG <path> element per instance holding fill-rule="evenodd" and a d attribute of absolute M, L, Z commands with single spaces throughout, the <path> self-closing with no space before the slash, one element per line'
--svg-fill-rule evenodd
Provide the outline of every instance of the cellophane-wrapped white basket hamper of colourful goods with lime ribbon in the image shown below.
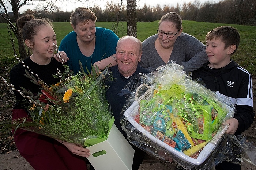
<path fill-rule="evenodd" d="M 225 120 L 236 109 L 229 99 L 191 80 L 182 69 L 172 61 L 140 75 L 138 86 L 127 87 L 135 90 L 123 107 L 121 125 L 128 140 L 158 162 L 181 169 L 210 169 L 225 161 L 214 157 L 225 152 L 225 142 L 218 153 L 216 148 L 228 128 Z"/>

